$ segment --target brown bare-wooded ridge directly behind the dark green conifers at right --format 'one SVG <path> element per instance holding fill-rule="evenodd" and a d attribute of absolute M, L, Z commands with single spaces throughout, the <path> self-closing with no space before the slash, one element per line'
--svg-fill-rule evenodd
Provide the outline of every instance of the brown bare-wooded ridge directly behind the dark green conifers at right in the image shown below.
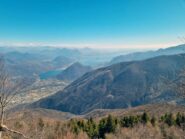
<path fill-rule="evenodd" d="M 116 117 L 127 116 L 127 115 L 140 115 L 144 112 L 147 112 L 150 115 L 155 115 L 160 117 L 166 113 L 184 113 L 185 114 L 185 106 L 168 104 L 168 103 L 158 103 L 158 104 L 147 104 L 141 105 L 133 108 L 126 109 L 96 109 L 89 113 L 86 113 L 84 118 L 102 118 L 108 115 L 113 115 Z"/>

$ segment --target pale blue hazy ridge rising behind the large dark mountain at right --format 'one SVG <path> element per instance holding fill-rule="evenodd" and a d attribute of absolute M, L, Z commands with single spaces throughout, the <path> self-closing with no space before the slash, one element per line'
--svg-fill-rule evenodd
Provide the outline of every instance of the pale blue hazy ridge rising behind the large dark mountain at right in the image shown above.
<path fill-rule="evenodd" d="M 120 55 L 113 58 L 109 64 L 111 65 L 111 64 L 120 63 L 120 62 L 145 60 L 148 58 L 161 56 L 161 55 L 174 55 L 174 54 L 181 54 L 181 53 L 185 53 L 185 44 L 169 47 L 166 49 L 159 49 L 157 51 L 136 52 L 136 53 L 130 53 L 126 55 Z"/>

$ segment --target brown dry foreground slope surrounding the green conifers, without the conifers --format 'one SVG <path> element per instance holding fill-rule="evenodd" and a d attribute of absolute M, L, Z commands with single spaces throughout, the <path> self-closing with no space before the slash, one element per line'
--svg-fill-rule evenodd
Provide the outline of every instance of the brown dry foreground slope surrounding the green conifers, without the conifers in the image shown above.
<path fill-rule="evenodd" d="M 172 104 L 153 104 L 130 109 L 119 110 L 95 110 L 87 115 L 73 115 L 54 110 L 30 109 L 22 110 L 7 115 L 6 125 L 16 129 L 31 139 L 89 139 L 86 132 L 78 131 L 78 134 L 69 126 L 69 119 L 86 120 L 93 116 L 98 123 L 99 120 L 111 114 L 115 117 L 126 115 L 140 115 L 148 112 L 151 116 L 161 116 L 165 113 L 184 113 L 184 106 Z M 75 131 L 76 132 L 76 131 Z M 118 126 L 114 134 L 106 134 L 106 139 L 185 139 L 185 132 L 177 126 L 168 126 L 158 123 L 157 126 L 148 124 L 137 124 L 134 127 L 124 128 Z M 21 139 L 13 134 L 4 134 L 4 139 Z"/>

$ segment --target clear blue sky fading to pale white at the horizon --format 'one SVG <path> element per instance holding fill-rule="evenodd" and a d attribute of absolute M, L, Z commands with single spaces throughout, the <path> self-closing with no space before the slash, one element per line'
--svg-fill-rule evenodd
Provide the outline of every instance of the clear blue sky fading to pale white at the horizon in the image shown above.
<path fill-rule="evenodd" d="M 157 48 L 179 37 L 184 0 L 0 0 L 0 45 Z"/>

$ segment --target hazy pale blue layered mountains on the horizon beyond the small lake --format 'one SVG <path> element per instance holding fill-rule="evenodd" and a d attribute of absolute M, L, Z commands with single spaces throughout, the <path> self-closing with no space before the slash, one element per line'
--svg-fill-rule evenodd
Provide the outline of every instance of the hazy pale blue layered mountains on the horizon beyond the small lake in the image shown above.
<path fill-rule="evenodd" d="M 47 72 L 55 74 L 55 71 L 60 71 L 77 61 L 82 65 L 97 68 L 124 53 L 124 50 L 111 52 L 90 48 L 0 47 L 0 55 L 4 56 L 7 69 L 12 76 L 44 74 L 44 78 Z"/>

